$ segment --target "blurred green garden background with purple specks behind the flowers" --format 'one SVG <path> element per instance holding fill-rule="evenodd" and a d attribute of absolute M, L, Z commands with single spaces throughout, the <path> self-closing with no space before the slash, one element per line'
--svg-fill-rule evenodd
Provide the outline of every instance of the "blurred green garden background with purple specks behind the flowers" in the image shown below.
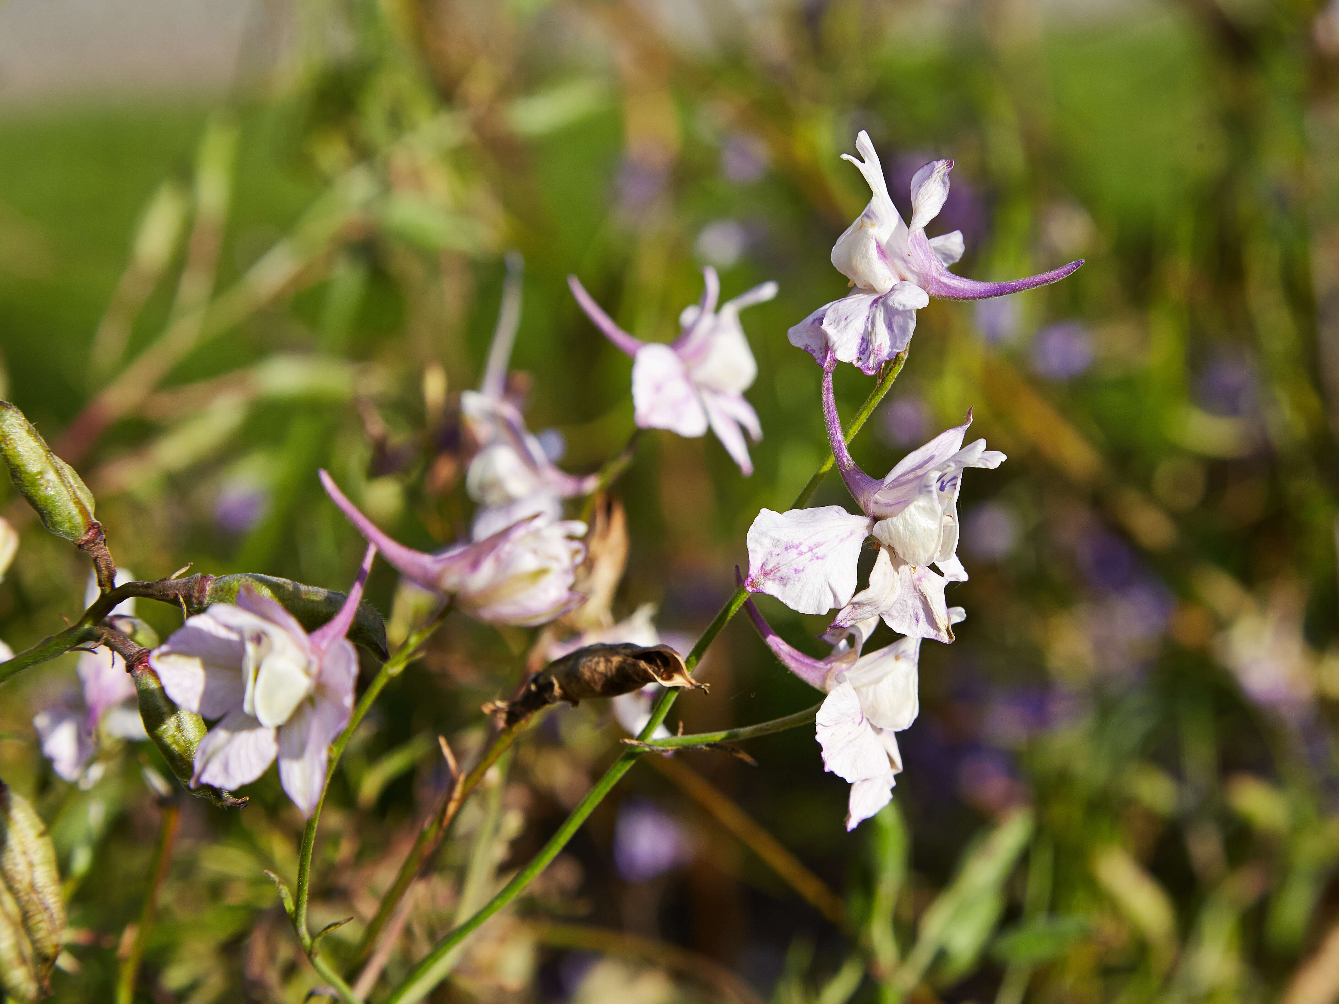
<path fill-rule="evenodd" d="M 629 363 L 566 276 L 667 340 L 710 264 L 724 296 L 781 285 L 743 316 L 757 471 L 740 478 L 710 436 L 649 434 L 616 489 L 632 539 L 616 613 L 656 602 L 661 631 L 692 636 L 746 564 L 758 509 L 782 507 L 826 452 L 818 369 L 786 328 L 844 292 L 828 256 L 868 198 L 838 159 L 860 129 L 904 213 L 915 169 L 955 158 L 931 230 L 964 232 L 957 272 L 1087 260 L 1008 300 L 932 303 L 854 448 L 882 473 L 971 407 L 972 435 L 1010 455 L 965 482 L 972 580 L 951 602 L 968 620 L 921 653 L 894 792 L 908 874 L 888 814 L 844 833 L 846 786 L 803 730 L 753 743 L 757 768 L 675 760 L 874 920 L 834 925 L 682 779 L 639 767 L 434 1000 L 719 999 L 696 963 L 639 954 L 633 936 L 782 1004 L 893 1000 L 844 960 L 888 958 L 869 948 L 876 914 L 905 953 L 973 834 L 1024 805 L 1036 826 L 1018 867 L 955 914 L 911 999 L 1339 999 L 1339 11 L 299 0 L 256 3 L 238 27 L 202 3 L 161 37 L 116 35 L 118 70 L 115 46 L 90 68 L 70 41 L 106 13 L 60 4 L 0 5 L 5 398 L 83 474 L 143 577 L 194 562 L 344 588 L 362 543 L 321 466 L 414 546 L 462 535 L 454 402 L 479 379 L 509 249 L 526 262 L 513 367 L 528 420 L 562 434 L 568 470 L 595 470 L 632 431 Z M 56 54 L 42 74 L 20 58 L 39 41 Z M 193 64 L 187 41 L 213 55 Z M 845 414 L 869 383 L 838 373 Z M 850 505 L 836 479 L 815 501 Z M 23 542 L 0 637 L 19 649 L 79 613 L 87 572 L 21 501 L 5 514 Z M 379 566 L 371 596 L 403 636 L 394 593 Z M 821 651 L 822 618 L 759 605 Z M 163 632 L 179 622 L 141 606 Z M 528 645 L 453 617 L 387 692 L 327 809 L 317 924 L 375 909 L 368 890 L 446 784 L 422 738 L 477 744 L 478 705 L 514 684 Z M 63 869 L 83 869 L 56 999 L 94 1001 L 157 823 L 142 754 L 87 790 L 42 760 L 31 716 L 74 687 L 72 665 L 4 685 L 0 774 L 37 797 Z M 710 696 L 675 708 L 688 731 L 813 700 L 744 622 L 704 679 Z M 537 730 L 502 791 L 501 874 L 615 735 L 589 707 Z M 185 807 L 143 1000 L 297 1001 L 316 983 L 261 873 L 292 871 L 300 821 L 273 774 L 252 787 L 240 814 Z M 636 813 L 683 849 L 651 878 L 616 866 Z M 450 926 L 466 853 L 447 849 L 388 973 Z M 565 946 L 536 917 L 605 940 Z"/>

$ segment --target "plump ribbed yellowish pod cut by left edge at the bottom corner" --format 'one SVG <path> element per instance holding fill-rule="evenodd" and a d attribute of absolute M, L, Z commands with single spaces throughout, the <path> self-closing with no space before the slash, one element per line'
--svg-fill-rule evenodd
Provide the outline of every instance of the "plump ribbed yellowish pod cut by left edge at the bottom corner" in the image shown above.
<path fill-rule="evenodd" d="M 7 1000 L 50 992 L 66 908 L 56 850 L 28 801 L 0 782 L 0 988 Z"/>

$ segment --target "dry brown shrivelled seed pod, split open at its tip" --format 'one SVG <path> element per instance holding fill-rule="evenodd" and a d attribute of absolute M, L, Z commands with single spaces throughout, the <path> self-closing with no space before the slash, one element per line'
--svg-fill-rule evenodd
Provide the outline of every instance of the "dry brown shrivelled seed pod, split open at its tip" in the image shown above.
<path fill-rule="evenodd" d="M 514 726 L 560 700 L 576 705 L 586 699 L 619 697 L 648 683 L 707 689 L 707 684 L 688 675 L 683 657 L 670 645 L 586 645 L 530 676 L 514 701 L 489 701 L 483 711 L 497 716 L 503 726 Z"/>

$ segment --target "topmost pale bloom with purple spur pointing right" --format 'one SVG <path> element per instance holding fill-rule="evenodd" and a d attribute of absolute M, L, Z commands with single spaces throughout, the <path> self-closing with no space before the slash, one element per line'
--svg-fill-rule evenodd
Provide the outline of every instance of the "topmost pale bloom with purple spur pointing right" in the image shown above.
<path fill-rule="evenodd" d="M 925 224 L 939 216 L 948 198 L 952 161 L 932 161 L 912 178 L 912 218 L 901 214 L 888 194 L 884 167 L 869 134 L 861 130 L 850 161 L 865 175 L 873 193 L 865 212 L 833 245 L 832 262 L 853 289 L 823 304 L 790 329 L 790 344 L 809 352 L 819 365 L 853 363 L 866 373 L 907 348 L 916 331 L 916 311 L 932 296 L 945 300 L 984 300 L 1056 282 L 1082 260 L 1010 282 L 979 282 L 955 276 L 949 265 L 963 257 L 963 233 L 953 230 L 927 237 Z"/>

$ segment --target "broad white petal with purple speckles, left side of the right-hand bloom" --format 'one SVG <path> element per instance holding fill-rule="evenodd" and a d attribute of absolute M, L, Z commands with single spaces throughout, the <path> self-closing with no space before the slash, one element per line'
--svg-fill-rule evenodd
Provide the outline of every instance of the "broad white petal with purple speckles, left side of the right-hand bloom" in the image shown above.
<path fill-rule="evenodd" d="M 749 590 L 801 613 L 841 606 L 856 592 L 856 562 L 868 535 L 869 519 L 841 506 L 763 509 L 749 527 Z"/>

